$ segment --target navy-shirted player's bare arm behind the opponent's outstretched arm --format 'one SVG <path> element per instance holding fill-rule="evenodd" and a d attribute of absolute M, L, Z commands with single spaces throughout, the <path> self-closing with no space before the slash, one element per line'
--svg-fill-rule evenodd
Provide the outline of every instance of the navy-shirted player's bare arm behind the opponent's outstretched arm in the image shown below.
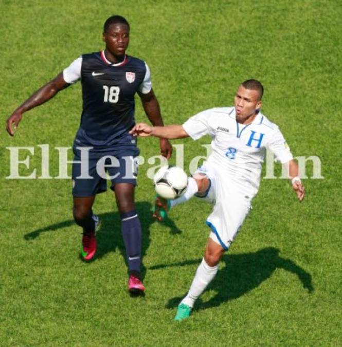
<path fill-rule="evenodd" d="M 138 95 L 141 99 L 142 107 L 152 125 L 163 126 L 164 123 L 163 119 L 161 118 L 159 103 L 153 92 L 153 89 L 151 89 L 151 92 L 147 94 L 142 94 L 138 92 Z M 169 140 L 165 138 L 160 138 L 159 145 L 161 155 L 169 159 L 172 154 L 172 146 Z"/>

